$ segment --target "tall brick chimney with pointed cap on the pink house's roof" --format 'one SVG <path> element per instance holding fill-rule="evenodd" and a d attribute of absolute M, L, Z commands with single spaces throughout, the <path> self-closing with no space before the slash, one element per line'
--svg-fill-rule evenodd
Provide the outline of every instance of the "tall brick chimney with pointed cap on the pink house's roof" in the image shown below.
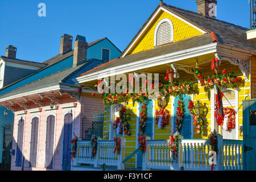
<path fill-rule="evenodd" d="M 73 67 L 76 67 L 81 61 L 86 60 L 88 43 L 84 36 L 77 35 L 74 43 Z"/>

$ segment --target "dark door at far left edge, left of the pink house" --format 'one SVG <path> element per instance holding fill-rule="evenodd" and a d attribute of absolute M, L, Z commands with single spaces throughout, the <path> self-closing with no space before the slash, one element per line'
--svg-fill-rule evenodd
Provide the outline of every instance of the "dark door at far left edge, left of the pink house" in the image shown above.
<path fill-rule="evenodd" d="M 13 147 L 13 127 L 5 127 L 5 135 L 3 136 L 3 157 L 2 169 L 3 171 L 10 171 L 11 169 L 11 155 L 10 149 Z"/>

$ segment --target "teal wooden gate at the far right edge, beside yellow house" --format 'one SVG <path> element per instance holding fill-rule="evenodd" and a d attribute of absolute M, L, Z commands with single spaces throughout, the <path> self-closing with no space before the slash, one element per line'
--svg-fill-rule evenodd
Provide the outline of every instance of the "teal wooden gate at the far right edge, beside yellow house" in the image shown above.
<path fill-rule="evenodd" d="M 256 170 L 256 100 L 243 101 L 243 168 Z"/>

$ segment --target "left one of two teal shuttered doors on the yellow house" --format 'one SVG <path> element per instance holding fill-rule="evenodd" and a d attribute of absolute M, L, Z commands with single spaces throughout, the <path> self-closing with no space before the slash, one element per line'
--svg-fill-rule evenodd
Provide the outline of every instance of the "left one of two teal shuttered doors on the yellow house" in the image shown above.
<path fill-rule="evenodd" d="M 145 105 L 147 106 L 147 120 L 146 120 L 146 128 L 145 128 L 145 135 L 150 137 L 152 139 L 152 125 L 153 125 L 153 101 L 152 100 L 146 100 Z M 139 104 L 139 113 L 141 113 L 141 107 L 143 106 L 142 103 Z M 139 115 L 139 119 L 141 119 L 141 115 Z M 139 123 L 138 123 L 139 125 Z M 138 135 L 141 134 L 139 130 L 137 130 Z M 137 148 L 139 147 L 139 142 Z M 142 152 L 139 151 L 137 155 L 137 168 L 142 168 L 142 162 L 143 162 L 143 155 Z"/>

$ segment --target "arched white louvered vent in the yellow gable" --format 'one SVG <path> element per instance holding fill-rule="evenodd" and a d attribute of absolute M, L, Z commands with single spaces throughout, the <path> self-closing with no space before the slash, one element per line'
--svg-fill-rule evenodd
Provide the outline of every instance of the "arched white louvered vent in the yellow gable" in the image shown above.
<path fill-rule="evenodd" d="M 154 46 L 160 46 L 174 41 L 174 26 L 168 18 L 160 20 L 155 28 Z"/>

